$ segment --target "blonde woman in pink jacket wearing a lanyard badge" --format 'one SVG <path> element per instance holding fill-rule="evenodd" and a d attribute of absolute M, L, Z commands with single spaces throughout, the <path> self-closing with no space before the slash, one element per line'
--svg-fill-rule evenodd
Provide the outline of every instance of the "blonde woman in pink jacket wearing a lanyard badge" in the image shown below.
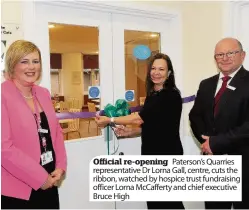
<path fill-rule="evenodd" d="M 18 40 L 5 57 L 1 84 L 3 209 L 58 209 L 56 184 L 66 171 L 63 135 L 41 76 L 38 47 Z"/>

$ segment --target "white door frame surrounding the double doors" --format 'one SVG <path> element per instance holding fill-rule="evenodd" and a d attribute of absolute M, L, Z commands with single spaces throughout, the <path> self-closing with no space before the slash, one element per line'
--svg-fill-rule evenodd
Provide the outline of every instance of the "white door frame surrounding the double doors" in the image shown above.
<path fill-rule="evenodd" d="M 98 12 L 109 12 L 114 14 L 126 14 L 133 16 L 149 17 L 160 20 L 167 20 L 169 22 L 169 34 L 167 54 L 170 55 L 171 60 L 176 69 L 176 83 L 178 88 L 183 90 L 183 50 L 182 50 L 182 17 L 181 13 L 176 10 L 159 7 L 153 4 L 141 4 L 135 2 L 98 2 L 98 1 L 24 1 L 23 8 L 23 34 L 24 39 L 34 40 L 35 37 L 35 17 L 36 4 L 60 6 L 66 8 L 77 8 L 84 10 L 93 10 Z M 50 87 L 46 87 L 50 90 Z M 101 87 L 102 88 L 102 87 Z M 103 102 L 104 103 L 104 102 Z M 108 102 L 109 103 L 109 102 Z M 105 104 L 105 103 L 104 103 Z M 183 139 L 183 117 L 181 118 L 180 136 Z"/>

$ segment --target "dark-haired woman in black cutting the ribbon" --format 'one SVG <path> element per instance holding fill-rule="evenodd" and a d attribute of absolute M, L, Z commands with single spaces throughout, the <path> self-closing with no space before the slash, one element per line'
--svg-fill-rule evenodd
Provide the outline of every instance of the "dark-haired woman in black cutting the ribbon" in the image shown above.
<path fill-rule="evenodd" d="M 142 155 L 183 155 L 179 135 L 182 113 L 180 91 L 175 85 L 174 69 L 169 56 L 158 53 L 148 64 L 147 97 L 137 114 L 108 118 L 97 116 L 98 126 L 141 125 L 137 128 L 118 126 L 116 133 L 123 137 L 142 137 Z M 182 202 L 147 202 L 148 209 L 184 209 Z"/>

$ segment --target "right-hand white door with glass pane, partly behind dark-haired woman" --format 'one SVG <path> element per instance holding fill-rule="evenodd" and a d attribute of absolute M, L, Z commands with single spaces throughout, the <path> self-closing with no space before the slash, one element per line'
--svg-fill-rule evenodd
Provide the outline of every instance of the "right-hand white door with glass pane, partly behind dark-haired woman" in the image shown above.
<path fill-rule="evenodd" d="M 134 100 L 129 102 L 130 106 L 140 106 L 146 96 L 145 79 L 148 63 L 146 54 L 162 52 L 168 54 L 173 61 L 180 60 L 179 57 L 175 57 L 176 52 L 172 48 L 173 40 L 170 37 L 173 29 L 170 28 L 168 20 L 146 15 L 139 17 L 113 14 L 112 21 L 114 101 L 124 99 L 126 91 L 132 91 Z M 144 50 L 139 49 L 141 46 Z M 148 47 L 148 52 L 145 47 Z M 173 62 L 173 66 L 174 64 Z M 174 70 L 177 76 L 181 75 L 181 69 L 177 65 L 174 66 Z M 176 78 L 176 81 L 179 84 L 180 77 Z M 129 97 L 127 99 L 130 100 Z M 116 154 L 141 154 L 140 137 L 122 139 L 117 144 L 119 147 Z M 116 208 L 146 209 L 147 205 L 146 202 L 116 202 Z"/>

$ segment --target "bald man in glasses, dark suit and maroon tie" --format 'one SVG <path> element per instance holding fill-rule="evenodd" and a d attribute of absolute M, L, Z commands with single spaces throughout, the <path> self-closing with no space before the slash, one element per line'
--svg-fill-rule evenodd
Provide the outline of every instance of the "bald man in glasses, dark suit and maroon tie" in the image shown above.
<path fill-rule="evenodd" d="M 206 209 L 249 209 L 249 72 L 233 38 L 219 41 L 219 74 L 201 81 L 189 114 L 192 131 L 208 155 L 242 155 L 242 202 L 205 202 Z"/>

